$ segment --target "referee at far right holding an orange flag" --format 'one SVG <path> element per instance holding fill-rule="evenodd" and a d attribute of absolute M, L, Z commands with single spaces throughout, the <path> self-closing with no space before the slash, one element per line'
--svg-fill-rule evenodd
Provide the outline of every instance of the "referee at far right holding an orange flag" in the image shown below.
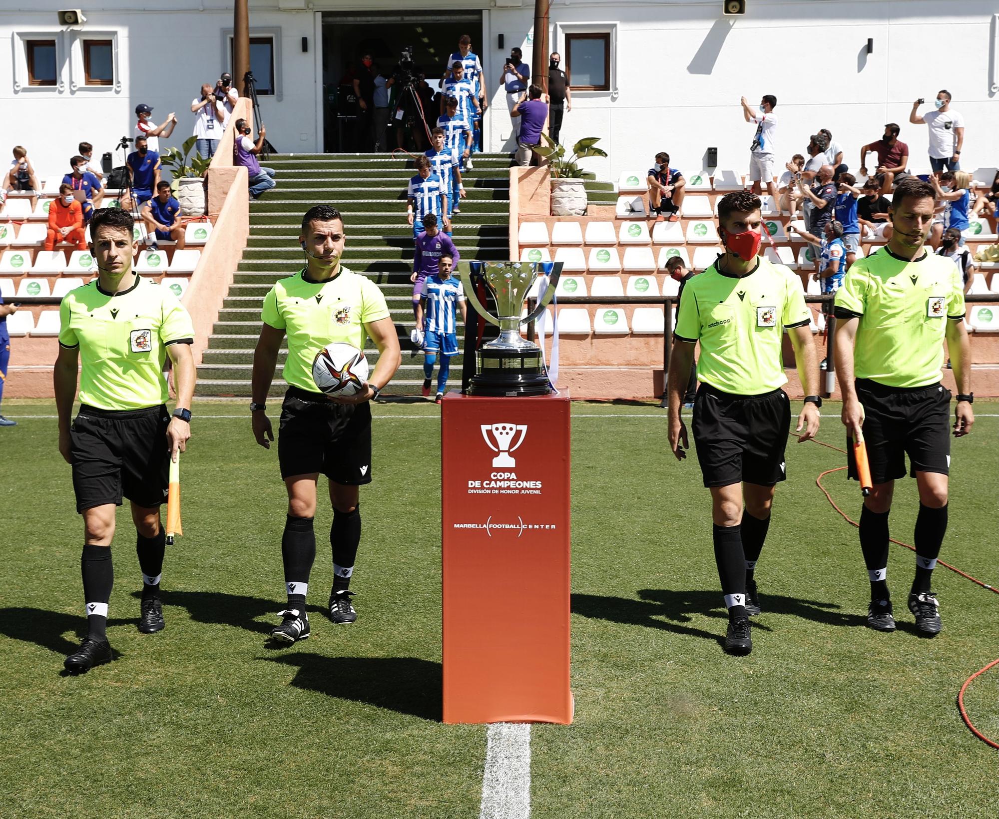
<path fill-rule="evenodd" d="M 941 628 L 930 580 L 947 531 L 951 395 L 940 384 L 944 339 L 958 392 L 954 436 L 968 434 L 975 422 L 961 274 L 950 259 L 924 246 L 933 207 L 932 186 L 915 178 L 898 184 L 888 212 L 891 239 L 853 263 L 835 308 L 849 475 L 857 477 L 852 442 L 862 429 L 874 484 L 860 513 L 860 548 L 871 584 L 867 625 L 895 630 L 887 582 L 888 513 L 907 454 L 919 489 L 909 610 L 916 628 L 928 636 Z"/>

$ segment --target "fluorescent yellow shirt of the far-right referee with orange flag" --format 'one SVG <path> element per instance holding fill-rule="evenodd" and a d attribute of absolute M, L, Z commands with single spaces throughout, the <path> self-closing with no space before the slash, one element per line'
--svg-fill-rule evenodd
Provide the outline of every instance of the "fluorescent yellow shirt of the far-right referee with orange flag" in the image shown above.
<path fill-rule="evenodd" d="M 898 388 L 936 384 L 947 321 L 964 319 L 961 274 L 950 259 L 928 250 L 910 262 L 882 248 L 846 272 L 836 315 L 860 320 L 856 378 Z"/>

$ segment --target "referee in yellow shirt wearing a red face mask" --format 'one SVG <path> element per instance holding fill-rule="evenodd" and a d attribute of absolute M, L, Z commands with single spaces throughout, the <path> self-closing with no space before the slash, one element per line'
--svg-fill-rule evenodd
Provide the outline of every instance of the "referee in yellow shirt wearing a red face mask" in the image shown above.
<path fill-rule="evenodd" d="M 781 390 L 787 383 L 783 330 L 807 394 L 796 427 L 804 428 L 799 441 L 815 436 L 822 404 L 813 395 L 818 370 L 801 280 L 757 256 L 761 224 L 759 197 L 748 191 L 722 197 L 718 235 L 725 252 L 687 282 L 669 360 L 669 445 L 682 460 L 689 444 L 680 407 L 700 342 L 693 439 L 711 490 L 714 559 L 728 609 L 725 650 L 732 654 L 752 650 L 747 615 L 760 611 L 754 570 L 774 489 L 786 476 L 791 408 Z"/>

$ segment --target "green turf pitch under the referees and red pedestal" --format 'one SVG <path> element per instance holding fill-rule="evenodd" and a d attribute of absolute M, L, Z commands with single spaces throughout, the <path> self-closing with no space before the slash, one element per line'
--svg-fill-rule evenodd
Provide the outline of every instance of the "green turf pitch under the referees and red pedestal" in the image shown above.
<path fill-rule="evenodd" d="M 477 816 L 486 729 L 440 722 L 438 408 L 376 409 L 359 620 L 335 627 L 323 613 L 332 514 L 321 504 L 313 636 L 285 649 L 265 644 L 284 601 L 276 449 L 256 445 L 245 403 L 196 410 L 167 628 L 136 631 L 123 508 L 108 629 L 119 657 L 74 678 L 61 674 L 84 626 L 70 468 L 55 420 L 26 417 L 51 415 L 50 403 L 4 404 L 19 425 L 0 429 L 0 816 Z M 842 445 L 838 407 L 823 411 L 819 437 Z M 999 656 L 999 595 L 938 567 L 944 631 L 921 639 L 905 609 L 914 558 L 893 546 L 900 627 L 866 629 L 856 529 L 814 483 L 843 456 L 791 444 L 756 571 L 753 653 L 726 656 L 709 495 L 696 460 L 668 451 L 664 415 L 573 406 L 575 721 L 532 730 L 532 815 L 992 815 L 995 752 L 955 698 Z M 954 444 L 941 554 L 991 583 L 997 432 L 999 418 L 981 417 Z M 843 472 L 825 483 L 856 517 L 856 484 Z M 917 503 L 914 481 L 900 481 L 899 539 L 911 542 Z M 994 737 L 997 684 L 999 668 L 966 698 Z"/>

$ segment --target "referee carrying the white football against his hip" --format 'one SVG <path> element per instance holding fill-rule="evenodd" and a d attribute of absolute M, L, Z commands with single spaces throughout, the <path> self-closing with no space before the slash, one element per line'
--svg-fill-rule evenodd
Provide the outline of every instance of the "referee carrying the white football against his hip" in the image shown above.
<path fill-rule="evenodd" d="M 316 559 L 313 521 L 320 473 L 329 478 L 333 504 L 330 617 L 335 623 L 357 619 L 349 588 L 361 541 L 359 487 L 372 479 L 369 402 L 378 398 L 400 364 L 399 337 L 382 291 L 341 264 L 346 236 L 340 212 L 329 205 L 312 208 L 302 219 L 299 242 L 306 267 L 280 280 L 264 298 L 250 404 L 254 436 L 270 448 L 274 432 L 265 404 L 287 335 L 288 392 L 281 408 L 278 461 L 288 489 L 288 517 L 281 538 L 288 604 L 281 612 L 281 624 L 271 631 L 276 642 L 286 644 L 310 634 L 306 594 Z M 313 381 L 316 355 L 332 342 L 364 350 L 366 337 L 375 342 L 379 359 L 365 390 L 349 398 L 328 399 Z"/>

